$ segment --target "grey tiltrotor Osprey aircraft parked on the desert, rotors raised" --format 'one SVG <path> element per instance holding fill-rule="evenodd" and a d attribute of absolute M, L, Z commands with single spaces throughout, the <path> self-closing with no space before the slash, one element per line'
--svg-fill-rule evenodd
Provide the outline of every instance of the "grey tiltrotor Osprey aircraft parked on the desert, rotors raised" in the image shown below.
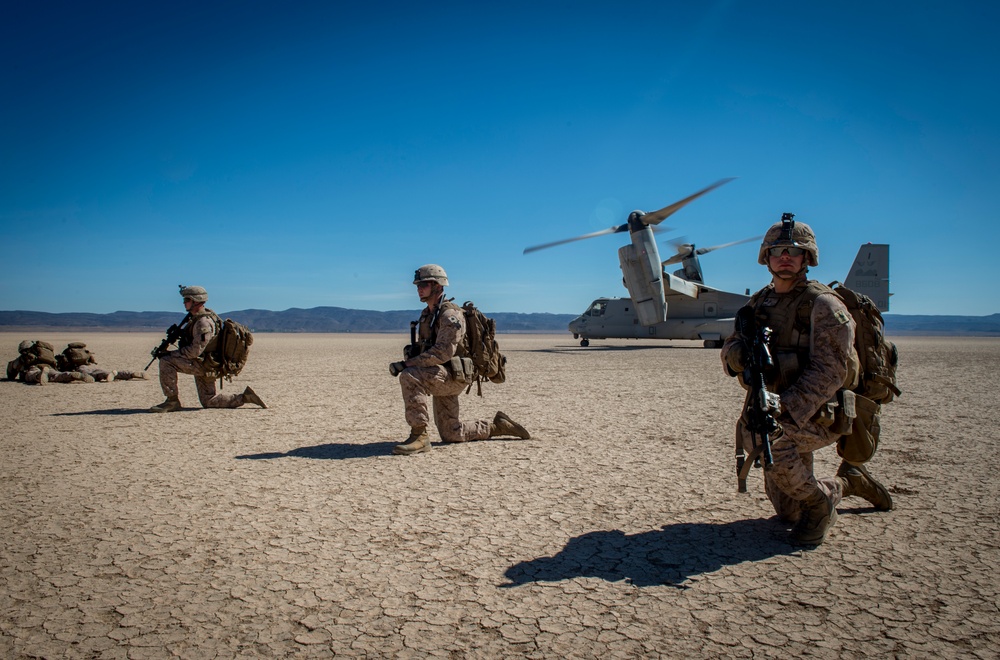
<path fill-rule="evenodd" d="M 536 245 L 524 253 L 593 238 L 604 234 L 629 232 L 630 245 L 618 250 L 623 281 L 629 298 L 598 298 L 583 314 L 573 319 L 569 331 L 589 346 L 591 339 L 694 339 L 702 340 L 706 348 L 719 348 L 733 331 L 736 312 L 750 299 L 745 294 L 730 293 L 707 286 L 698 257 L 732 245 L 760 240 L 746 238 L 709 248 L 679 244 L 677 254 L 660 261 L 653 240 L 653 227 L 663 222 L 687 203 L 732 181 L 722 179 L 695 194 L 664 207 L 659 211 L 633 211 L 628 221 L 616 227 L 575 238 Z M 681 264 L 674 273 L 667 267 Z M 889 310 L 889 246 L 865 244 L 858 250 L 854 265 L 844 285 L 871 298 L 880 311 Z"/>

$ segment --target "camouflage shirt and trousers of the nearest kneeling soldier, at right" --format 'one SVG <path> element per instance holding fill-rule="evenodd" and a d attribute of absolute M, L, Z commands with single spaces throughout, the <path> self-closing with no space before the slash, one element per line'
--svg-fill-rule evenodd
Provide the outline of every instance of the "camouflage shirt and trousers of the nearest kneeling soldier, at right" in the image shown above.
<path fill-rule="evenodd" d="M 775 293 L 773 285 L 768 285 L 754 295 L 751 300 L 756 301 L 760 322 L 772 328 L 774 338 L 794 336 L 797 333 L 787 327 L 775 327 L 775 322 L 782 322 L 776 317 L 786 319 L 786 324 L 788 320 L 794 320 L 794 309 L 800 305 L 800 301 L 809 297 L 807 289 L 812 289 L 815 293 L 816 285 L 815 282 L 802 282 L 785 294 Z M 782 307 L 791 313 L 779 315 L 777 310 Z M 788 310 L 788 307 L 792 309 Z M 779 422 L 783 433 L 771 445 L 774 465 L 764 472 L 764 488 L 778 516 L 792 523 L 801 515 L 800 503 L 817 490 L 830 499 L 833 507 L 840 503 L 843 496 L 842 482 L 835 477 L 817 479 L 813 475 L 813 452 L 840 438 L 839 434 L 817 423 L 817 413 L 839 389 L 853 387 L 852 381 L 857 377 L 854 320 L 836 294 L 826 290 L 816 295 L 808 325 L 808 330 L 794 342 L 795 345 L 781 346 L 772 341 L 771 352 L 779 367 L 783 357 L 786 361 L 794 361 L 796 353 L 800 357 L 797 359 L 798 369 L 794 370 L 797 376 L 785 374 L 784 378 L 779 379 L 784 382 L 768 383 L 769 389 L 774 388 L 781 397 Z M 722 361 L 727 365 L 727 370 L 729 352 L 741 342 L 749 340 L 738 334 L 726 340 L 722 348 Z M 806 348 L 804 353 L 801 350 L 803 347 Z M 749 450 L 751 437 L 743 417 L 737 423 L 737 434 L 738 439 L 742 439 L 743 446 Z"/>

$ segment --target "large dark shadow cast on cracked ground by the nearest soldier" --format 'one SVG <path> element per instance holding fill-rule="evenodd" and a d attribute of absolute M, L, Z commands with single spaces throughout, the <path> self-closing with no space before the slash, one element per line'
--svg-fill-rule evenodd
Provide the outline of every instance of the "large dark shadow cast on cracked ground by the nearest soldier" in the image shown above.
<path fill-rule="evenodd" d="M 620 530 L 588 532 L 572 538 L 553 557 L 523 561 L 507 569 L 503 588 L 529 582 L 594 577 L 625 580 L 639 587 L 686 588 L 695 575 L 724 566 L 791 555 L 800 549 L 785 540 L 776 518 L 729 523 L 678 523 L 653 532 L 628 535 Z"/>

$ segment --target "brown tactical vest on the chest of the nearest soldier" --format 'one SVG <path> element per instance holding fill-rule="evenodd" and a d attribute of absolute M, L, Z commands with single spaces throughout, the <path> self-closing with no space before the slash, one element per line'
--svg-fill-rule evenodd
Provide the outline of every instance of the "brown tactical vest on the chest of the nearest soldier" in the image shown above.
<path fill-rule="evenodd" d="M 809 365 L 813 303 L 824 293 L 837 295 L 833 289 L 815 280 L 803 282 L 784 294 L 775 293 L 774 285 L 769 284 L 747 303 L 754 308 L 758 323 L 772 331 L 770 348 L 775 369 L 768 378 L 769 389 L 785 391 Z M 857 378 L 858 361 L 855 357 L 847 365 L 842 387 L 853 388 Z"/>

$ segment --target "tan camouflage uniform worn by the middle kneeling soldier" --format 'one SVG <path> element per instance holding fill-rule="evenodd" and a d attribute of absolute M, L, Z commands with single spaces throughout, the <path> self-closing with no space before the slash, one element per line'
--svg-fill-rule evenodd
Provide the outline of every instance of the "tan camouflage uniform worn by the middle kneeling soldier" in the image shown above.
<path fill-rule="evenodd" d="M 422 428 L 430 422 L 428 404 L 434 400 L 434 425 L 445 442 L 466 442 L 490 437 L 490 422 L 463 422 L 459 419 L 458 395 L 467 385 L 455 380 L 444 365 L 458 356 L 465 337 L 465 315 L 451 302 L 442 302 L 439 313 L 424 308 L 420 314 L 418 342 L 427 350 L 416 355 L 399 374 L 403 391 L 406 422 L 411 428 Z M 433 324 L 433 326 L 432 326 Z"/>

